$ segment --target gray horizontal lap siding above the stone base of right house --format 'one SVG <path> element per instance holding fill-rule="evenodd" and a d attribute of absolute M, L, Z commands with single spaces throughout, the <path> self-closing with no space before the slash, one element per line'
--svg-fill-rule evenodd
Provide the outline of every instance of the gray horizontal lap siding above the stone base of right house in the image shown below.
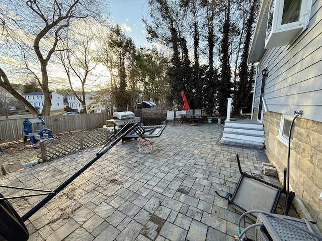
<path fill-rule="evenodd" d="M 260 97 L 261 70 L 267 66 L 264 98 L 268 109 L 322 122 L 322 1 L 311 9 L 309 28 L 288 48 L 268 49 L 259 65 L 255 99 Z M 255 106 L 257 107 L 257 106 Z"/>

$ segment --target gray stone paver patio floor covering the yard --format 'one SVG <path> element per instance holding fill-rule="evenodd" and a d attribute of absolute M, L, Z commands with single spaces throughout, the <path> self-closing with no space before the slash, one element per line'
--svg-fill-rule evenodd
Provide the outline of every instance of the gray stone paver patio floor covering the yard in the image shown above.
<path fill-rule="evenodd" d="M 119 142 L 25 222 L 29 240 L 234 240 L 240 214 L 215 191 L 233 193 L 240 177 L 235 155 L 243 171 L 278 180 L 261 173 L 262 162 L 268 162 L 262 150 L 221 145 L 222 129 L 171 123 L 159 138 L 149 139 L 153 150 L 146 154 L 135 140 Z M 9 173 L 0 183 L 54 190 L 99 149 Z M 43 198 L 10 202 L 23 216 Z"/>

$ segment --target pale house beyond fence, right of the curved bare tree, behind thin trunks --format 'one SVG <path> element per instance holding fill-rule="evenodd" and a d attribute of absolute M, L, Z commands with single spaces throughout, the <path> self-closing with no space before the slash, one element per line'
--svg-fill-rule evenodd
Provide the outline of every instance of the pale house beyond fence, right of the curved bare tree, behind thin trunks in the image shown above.
<path fill-rule="evenodd" d="M 93 105 L 92 104 L 92 97 L 97 95 L 95 92 L 90 92 L 90 93 L 85 93 L 85 103 L 86 103 L 86 108 L 88 113 L 99 113 L 103 112 L 104 108 L 101 106 Z M 77 96 L 83 100 L 83 94 L 82 93 L 77 93 Z M 77 109 L 79 112 L 83 109 L 81 101 L 79 101 L 75 95 L 73 94 L 67 94 L 67 103 L 68 107 L 72 109 Z"/>

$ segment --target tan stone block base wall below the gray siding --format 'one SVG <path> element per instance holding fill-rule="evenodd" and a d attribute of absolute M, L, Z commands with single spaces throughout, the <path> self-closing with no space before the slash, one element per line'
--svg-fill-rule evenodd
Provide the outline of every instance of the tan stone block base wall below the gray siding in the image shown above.
<path fill-rule="evenodd" d="M 305 115 L 305 112 L 304 112 Z M 283 171 L 287 167 L 288 147 L 279 141 L 281 114 L 264 113 L 265 152 L 271 163 Z M 304 116 L 303 116 L 304 117 Z M 281 183 L 283 173 L 279 173 Z M 322 230 L 322 123 L 298 117 L 290 152 L 290 190 L 302 200 Z M 298 210 L 299 211 L 299 210 Z"/>

